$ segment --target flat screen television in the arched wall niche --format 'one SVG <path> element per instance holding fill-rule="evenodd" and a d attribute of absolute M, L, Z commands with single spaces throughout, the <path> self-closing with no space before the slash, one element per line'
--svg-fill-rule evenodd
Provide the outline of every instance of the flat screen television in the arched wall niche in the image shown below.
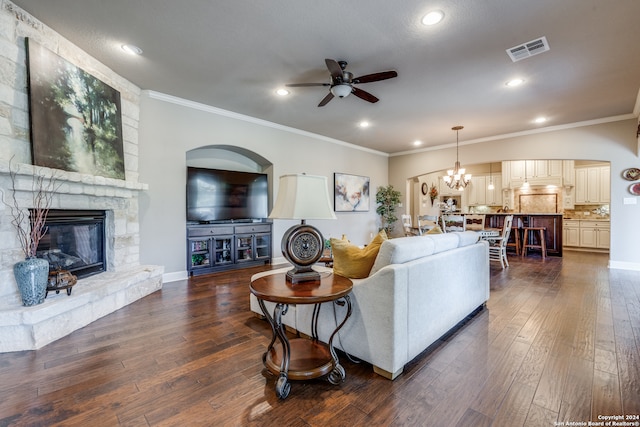
<path fill-rule="evenodd" d="M 187 221 L 264 219 L 268 205 L 266 174 L 187 168 Z"/>

